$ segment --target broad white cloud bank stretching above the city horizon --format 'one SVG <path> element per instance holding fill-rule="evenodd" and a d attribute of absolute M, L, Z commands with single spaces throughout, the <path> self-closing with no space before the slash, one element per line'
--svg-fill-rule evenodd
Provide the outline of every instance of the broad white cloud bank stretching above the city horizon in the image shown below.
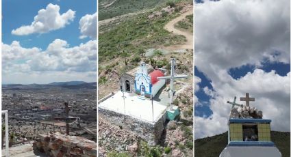
<path fill-rule="evenodd" d="M 45 72 L 79 72 L 83 77 L 92 77 L 92 72 L 97 70 L 97 40 L 70 47 L 65 40 L 56 39 L 45 51 L 23 48 L 17 41 L 10 45 L 2 43 L 2 59 L 3 80 L 8 80 L 9 76 Z"/>

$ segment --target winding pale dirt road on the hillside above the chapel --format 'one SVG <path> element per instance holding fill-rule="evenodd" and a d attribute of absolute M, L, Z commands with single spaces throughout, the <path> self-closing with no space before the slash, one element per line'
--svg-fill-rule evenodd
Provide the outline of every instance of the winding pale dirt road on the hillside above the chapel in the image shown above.
<path fill-rule="evenodd" d="M 184 12 L 183 14 L 181 14 L 181 16 L 174 18 L 173 20 L 170 20 L 170 22 L 164 26 L 164 29 L 166 29 L 167 31 L 170 31 L 177 35 L 184 35 L 187 40 L 186 43 L 184 44 L 166 46 L 165 49 L 169 51 L 175 51 L 175 50 L 181 50 L 181 49 L 193 49 L 193 33 L 181 31 L 175 28 L 176 23 L 178 23 L 180 20 L 183 20 L 184 18 L 186 18 L 187 15 L 190 15 L 190 14 L 193 14 L 192 10 L 189 10 L 188 12 Z"/>

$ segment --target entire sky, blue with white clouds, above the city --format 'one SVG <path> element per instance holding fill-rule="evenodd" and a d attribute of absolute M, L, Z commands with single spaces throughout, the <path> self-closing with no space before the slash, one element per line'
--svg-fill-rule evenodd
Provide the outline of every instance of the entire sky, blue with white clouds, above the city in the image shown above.
<path fill-rule="evenodd" d="M 49 11 L 47 10 L 47 7 L 49 7 L 50 3 L 51 10 Z M 60 9 L 59 11 L 57 11 L 58 8 Z M 46 23 L 45 20 L 57 22 L 51 24 L 53 26 L 51 28 L 49 28 L 50 26 L 41 28 L 41 32 L 36 30 L 36 27 L 30 27 L 30 30 L 34 29 L 33 32 L 25 33 L 27 32 L 25 31 L 25 28 L 20 27 L 29 27 L 29 25 L 34 21 L 34 17 L 38 15 L 39 10 L 45 10 L 46 12 L 44 13 L 44 16 L 38 16 L 40 20 L 37 20 L 36 22 L 41 22 L 42 25 L 51 24 Z M 93 60 L 97 57 L 97 50 L 96 48 L 94 50 L 92 46 L 92 44 L 97 46 L 96 12 L 97 1 L 91 0 L 3 0 L 2 51 L 4 57 L 2 57 L 2 82 L 27 84 L 73 80 L 96 81 L 96 76 L 94 76 L 96 75 L 94 74 L 94 71 L 96 73 L 96 68 L 93 68 L 94 65 L 96 65 L 96 61 Z M 52 16 L 55 14 L 60 14 L 60 16 L 58 16 L 58 18 L 57 16 Z M 55 19 L 50 20 L 50 18 Z M 82 24 L 80 24 L 81 18 L 83 18 Z M 60 19 L 62 20 L 62 23 L 59 22 Z M 82 27 L 82 30 L 80 29 L 81 25 L 84 26 Z M 12 33 L 12 30 L 14 29 L 19 29 L 18 33 Z M 81 33 L 81 31 L 84 32 Z M 81 35 L 84 36 L 81 38 Z M 16 44 L 17 42 L 18 44 Z M 54 49 L 53 51 L 55 52 L 47 50 L 50 44 L 52 44 L 52 47 L 55 46 L 59 49 Z M 35 49 L 30 50 L 30 48 Z M 92 51 L 95 51 L 96 54 L 94 55 Z M 43 57 L 43 59 L 47 59 L 47 61 L 36 63 L 36 55 L 40 55 L 39 59 L 42 59 L 41 57 Z M 70 55 L 72 56 L 71 58 Z M 78 57 L 80 60 L 83 59 L 79 64 L 76 63 Z M 55 63 L 50 63 L 50 61 L 55 61 Z M 91 66 L 88 65 L 86 61 L 90 61 L 89 64 Z M 11 66 L 16 67 L 14 67 L 14 69 L 9 68 Z M 45 66 L 50 67 L 45 68 Z M 51 68 L 53 66 L 55 66 L 55 68 Z M 90 66 L 92 68 L 81 68 L 81 66 Z M 59 75 L 60 77 L 57 77 L 56 75 Z M 16 77 L 24 79 L 17 80 Z"/>

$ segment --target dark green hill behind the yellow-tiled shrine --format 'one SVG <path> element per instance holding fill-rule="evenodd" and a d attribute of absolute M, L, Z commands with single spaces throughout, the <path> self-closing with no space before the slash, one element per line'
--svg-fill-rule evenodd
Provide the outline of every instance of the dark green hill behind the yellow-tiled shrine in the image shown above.
<path fill-rule="evenodd" d="M 290 156 L 290 132 L 271 132 L 271 140 L 278 147 L 282 157 Z M 217 157 L 227 146 L 227 132 L 194 141 L 195 157 Z"/>

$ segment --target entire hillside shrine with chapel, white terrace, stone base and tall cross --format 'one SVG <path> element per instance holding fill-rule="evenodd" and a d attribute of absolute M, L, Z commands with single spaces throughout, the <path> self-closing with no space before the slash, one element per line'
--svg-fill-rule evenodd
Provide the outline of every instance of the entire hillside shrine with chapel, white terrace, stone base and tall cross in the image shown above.
<path fill-rule="evenodd" d="M 151 145 L 160 140 L 166 119 L 179 115 L 173 105 L 175 59 L 170 60 L 171 70 L 153 69 L 141 62 L 140 66 L 125 72 L 119 78 L 120 90 L 99 100 L 99 113 L 116 126 L 122 126 L 142 137 Z M 166 87 L 166 82 L 170 87 Z"/>

